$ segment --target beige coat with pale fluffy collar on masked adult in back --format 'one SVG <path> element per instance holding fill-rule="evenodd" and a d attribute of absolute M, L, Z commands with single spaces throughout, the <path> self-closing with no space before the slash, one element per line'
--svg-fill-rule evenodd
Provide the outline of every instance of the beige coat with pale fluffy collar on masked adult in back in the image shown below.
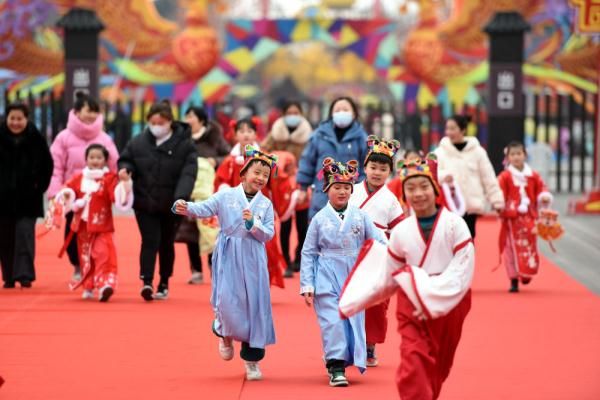
<path fill-rule="evenodd" d="M 292 153 L 296 160 L 300 160 L 302 150 L 304 150 L 312 130 L 306 118 L 302 118 L 300 125 L 290 133 L 287 126 L 285 126 L 285 122 L 283 122 L 283 117 L 278 118 L 273 123 L 269 135 L 261 143 L 261 149 L 264 151 L 286 150 Z"/>

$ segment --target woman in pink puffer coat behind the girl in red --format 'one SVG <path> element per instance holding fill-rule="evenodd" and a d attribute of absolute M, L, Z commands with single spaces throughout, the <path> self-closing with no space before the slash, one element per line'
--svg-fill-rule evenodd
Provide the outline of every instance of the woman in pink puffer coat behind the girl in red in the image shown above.
<path fill-rule="evenodd" d="M 100 114 L 100 106 L 92 97 L 78 92 L 73 109 L 69 112 L 67 127 L 61 131 L 52 146 L 50 153 L 54 160 L 54 171 L 48 188 L 48 198 L 54 196 L 64 187 L 65 183 L 73 176 L 81 173 L 86 166 L 85 149 L 90 144 L 101 144 L 108 150 L 108 168 L 117 171 L 119 152 L 112 138 L 103 131 L 104 117 Z M 65 238 L 69 237 L 73 213 L 66 215 Z M 77 235 L 71 235 L 67 247 L 69 261 L 73 265 L 73 280 L 81 279 L 79 255 L 77 253 Z"/>

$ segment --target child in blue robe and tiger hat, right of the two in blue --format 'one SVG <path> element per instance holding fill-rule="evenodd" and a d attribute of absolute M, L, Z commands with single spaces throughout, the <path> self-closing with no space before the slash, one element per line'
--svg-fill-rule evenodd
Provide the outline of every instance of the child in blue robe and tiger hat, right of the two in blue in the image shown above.
<path fill-rule="evenodd" d="M 323 191 L 329 202 L 312 219 L 302 248 L 300 293 L 314 304 L 321 328 L 329 385 L 348 386 L 346 367 L 366 368 L 365 314 L 342 320 L 338 303 L 344 282 L 367 239 L 385 243 L 368 215 L 348 205 L 358 177 L 358 163 L 323 161 Z"/>

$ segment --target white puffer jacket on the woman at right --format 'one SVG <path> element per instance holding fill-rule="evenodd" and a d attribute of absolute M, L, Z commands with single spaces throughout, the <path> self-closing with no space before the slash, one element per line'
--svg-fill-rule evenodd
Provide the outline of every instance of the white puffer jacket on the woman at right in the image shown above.
<path fill-rule="evenodd" d="M 504 196 L 487 152 L 477 138 L 465 137 L 465 140 L 467 145 L 462 151 L 454 147 L 447 137 L 440 141 L 435 150 L 440 182 L 452 175 L 465 197 L 469 214 L 483 214 L 486 199 L 494 208 L 503 207 Z"/>

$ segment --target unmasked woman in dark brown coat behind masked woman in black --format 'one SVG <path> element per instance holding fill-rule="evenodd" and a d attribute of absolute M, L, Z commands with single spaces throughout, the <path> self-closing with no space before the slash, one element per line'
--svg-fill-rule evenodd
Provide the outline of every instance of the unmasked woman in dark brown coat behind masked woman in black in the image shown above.
<path fill-rule="evenodd" d="M 188 108 L 185 113 L 185 122 L 190 125 L 192 141 L 198 151 L 198 157 L 206 158 L 216 169 L 231 151 L 231 147 L 223 137 L 221 127 L 208 119 L 208 115 L 202 107 Z M 184 241 L 187 245 L 190 269 L 192 270 L 192 276 L 188 283 L 193 285 L 203 283 L 200 236 L 196 220 L 184 218 L 179 226 L 177 237 L 178 241 Z"/>

